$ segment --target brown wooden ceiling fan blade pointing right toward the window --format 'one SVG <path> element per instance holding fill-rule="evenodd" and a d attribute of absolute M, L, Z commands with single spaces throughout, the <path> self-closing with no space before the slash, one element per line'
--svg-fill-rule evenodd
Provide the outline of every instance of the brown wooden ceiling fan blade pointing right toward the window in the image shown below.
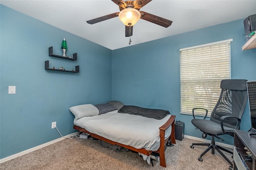
<path fill-rule="evenodd" d="M 149 13 L 143 12 L 143 11 L 141 11 L 140 14 L 141 14 L 140 18 L 142 20 L 146 20 L 146 21 L 152 22 L 154 24 L 163 26 L 165 28 L 167 28 L 168 26 L 172 25 L 172 21 L 167 20 L 165 18 L 162 18 L 160 16 L 149 14 Z"/>

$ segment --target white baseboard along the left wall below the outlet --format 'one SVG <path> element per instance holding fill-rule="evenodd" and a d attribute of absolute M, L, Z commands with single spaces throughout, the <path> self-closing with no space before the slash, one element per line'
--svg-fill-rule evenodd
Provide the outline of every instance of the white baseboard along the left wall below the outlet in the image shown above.
<path fill-rule="evenodd" d="M 74 132 L 74 133 L 72 133 L 72 134 L 75 134 L 75 133 L 77 133 L 77 132 Z M 28 154 L 28 153 L 33 152 L 33 151 L 35 151 L 35 150 L 38 150 L 38 149 L 40 149 L 40 148 L 44 148 L 45 146 L 48 146 L 48 145 L 50 145 L 50 144 L 54 144 L 54 143 L 56 143 L 56 142 L 60 142 L 61 140 L 64 140 L 64 139 L 68 138 L 68 137 L 69 137 L 70 135 L 72 135 L 72 134 L 68 134 L 67 136 L 64 136 L 65 138 L 61 137 L 61 138 L 52 140 L 52 141 L 50 141 L 50 142 L 47 142 L 47 143 L 38 145 L 38 146 L 36 146 L 36 147 L 34 147 L 34 148 L 30 148 L 30 149 L 28 149 L 28 150 L 24 150 L 24 151 L 19 152 L 19 153 L 17 153 L 17 154 L 8 156 L 8 157 L 6 157 L 6 158 L 2 158 L 2 159 L 0 159 L 0 164 L 2 164 L 3 162 L 6 162 L 6 161 L 8 161 L 8 160 L 17 158 L 17 157 L 19 157 L 19 156 L 22 156 L 22 155 L 24 155 L 24 154 Z"/>

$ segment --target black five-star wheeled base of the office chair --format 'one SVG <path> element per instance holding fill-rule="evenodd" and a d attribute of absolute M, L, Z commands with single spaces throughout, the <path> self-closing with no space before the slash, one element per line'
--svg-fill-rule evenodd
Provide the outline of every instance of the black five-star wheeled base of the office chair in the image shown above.
<path fill-rule="evenodd" d="M 212 154 L 214 154 L 215 150 L 217 150 L 220 153 L 220 155 L 230 164 L 230 166 L 233 166 L 232 162 L 221 152 L 221 150 L 228 152 L 230 154 L 233 154 L 233 152 L 225 148 L 222 148 L 221 146 L 216 145 L 214 141 L 214 135 L 212 136 L 212 138 L 213 140 L 211 144 L 210 143 L 192 143 L 192 145 L 190 146 L 190 148 L 194 148 L 194 145 L 208 146 L 208 148 L 206 148 L 206 150 L 202 152 L 198 160 L 202 162 L 203 161 L 202 156 L 204 156 L 209 150 L 212 150 Z"/>

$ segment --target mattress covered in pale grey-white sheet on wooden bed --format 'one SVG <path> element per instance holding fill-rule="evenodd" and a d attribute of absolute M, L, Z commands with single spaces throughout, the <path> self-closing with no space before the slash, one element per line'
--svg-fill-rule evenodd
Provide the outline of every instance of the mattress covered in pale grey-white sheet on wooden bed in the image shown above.
<path fill-rule="evenodd" d="M 142 117 L 118 111 L 108 112 L 102 115 L 83 117 L 74 120 L 74 125 L 98 134 L 104 138 L 129 145 L 134 148 L 145 148 L 156 151 L 160 147 L 159 127 L 170 118 L 164 119 Z M 165 139 L 171 134 L 171 126 L 166 129 Z"/>

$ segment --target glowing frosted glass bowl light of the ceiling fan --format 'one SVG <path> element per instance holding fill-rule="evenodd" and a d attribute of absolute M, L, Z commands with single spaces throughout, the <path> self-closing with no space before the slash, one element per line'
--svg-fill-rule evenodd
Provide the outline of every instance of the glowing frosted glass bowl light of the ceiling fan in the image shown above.
<path fill-rule="evenodd" d="M 119 19 L 126 26 L 133 26 L 140 19 L 140 12 L 134 8 L 126 8 L 119 12 Z"/>

